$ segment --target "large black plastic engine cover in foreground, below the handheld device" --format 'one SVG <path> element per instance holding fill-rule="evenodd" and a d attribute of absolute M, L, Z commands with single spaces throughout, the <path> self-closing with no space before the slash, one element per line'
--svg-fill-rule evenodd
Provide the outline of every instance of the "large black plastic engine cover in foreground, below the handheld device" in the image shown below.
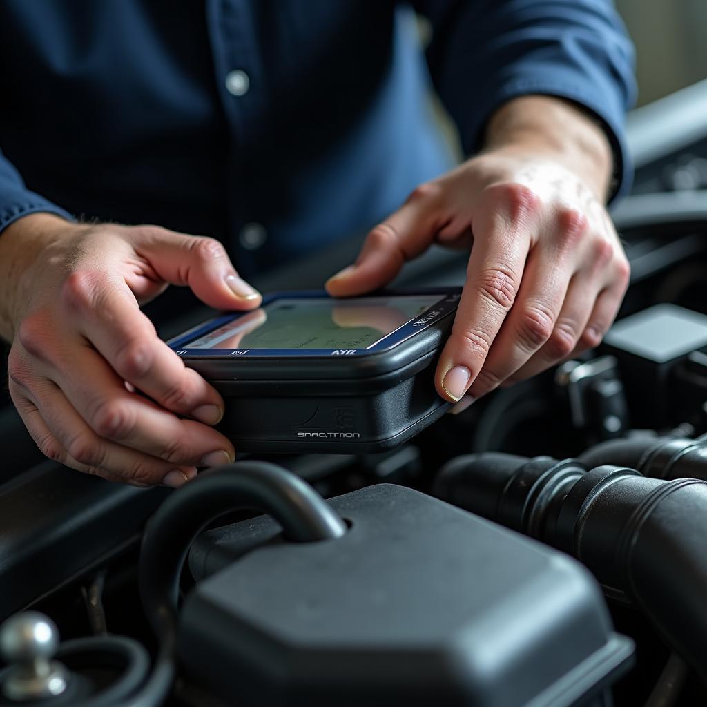
<path fill-rule="evenodd" d="M 179 651 L 224 704 L 609 704 L 633 643 L 578 562 L 402 486 L 329 503 L 344 537 L 262 516 L 193 544 Z"/>

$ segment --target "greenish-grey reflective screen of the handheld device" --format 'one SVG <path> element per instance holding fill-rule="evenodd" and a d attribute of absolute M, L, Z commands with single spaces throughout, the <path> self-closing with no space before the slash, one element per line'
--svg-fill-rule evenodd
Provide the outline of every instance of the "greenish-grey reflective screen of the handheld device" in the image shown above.
<path fill-rule="evenodd" d="M 442 295 L 335 300 L 284 298 L 236 317 L 189 349 L 368 349 L 418 317 Z"/>

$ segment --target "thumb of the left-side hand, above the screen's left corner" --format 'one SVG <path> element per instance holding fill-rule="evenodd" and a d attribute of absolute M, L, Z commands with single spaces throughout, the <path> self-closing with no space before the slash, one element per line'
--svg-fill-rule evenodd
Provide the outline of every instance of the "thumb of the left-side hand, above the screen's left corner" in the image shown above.
<path fill-rule="evenodd" d="M 260 293 L 240 278 L 226 248 L 215 238 L 150 228 L 134 246 L 161 279 L 189 286 L 209 307 L 247 310 L 262 302 Z"/>

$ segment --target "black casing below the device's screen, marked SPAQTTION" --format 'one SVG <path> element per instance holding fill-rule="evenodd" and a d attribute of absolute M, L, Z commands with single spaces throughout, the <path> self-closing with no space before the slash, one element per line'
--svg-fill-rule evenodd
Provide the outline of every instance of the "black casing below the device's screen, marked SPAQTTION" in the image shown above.
<path fill-rule="evenodd" d="M 450 407 L 436 391 L 433 376 L 460 290 L 428 292 L 449 296 L 435 305 L 438 316 L 382 351 L 356 356 L 187 354 L 182 360 L 223 395 L 226 411 L 218 429 L 238 451 L 387 450 L 431 425 Z"/>

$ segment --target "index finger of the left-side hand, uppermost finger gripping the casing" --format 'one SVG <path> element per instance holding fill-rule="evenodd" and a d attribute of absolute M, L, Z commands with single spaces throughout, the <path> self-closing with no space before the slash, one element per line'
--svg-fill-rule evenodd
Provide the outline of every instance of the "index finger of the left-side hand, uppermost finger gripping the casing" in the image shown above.
<path fill-rule="evenodd" d="M 103 273 L 74 273 L 62 292 L 78 332 L 123 380 L 177 414 L 209 425 L 221 419 L 221 395 L 158 338 L 121 279 Z M 57 355 L 42 346 L 35 348 L 40 358 Z M 54 365 L 69 370 L 75 366 L 73 361 L 55 361 Z"/>

